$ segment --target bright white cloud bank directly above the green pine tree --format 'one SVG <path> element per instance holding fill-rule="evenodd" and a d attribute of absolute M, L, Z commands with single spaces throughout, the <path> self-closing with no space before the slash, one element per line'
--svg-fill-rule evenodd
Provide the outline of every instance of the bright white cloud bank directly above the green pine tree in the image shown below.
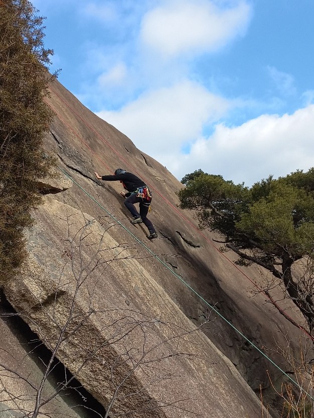
<path fill-rule="evenodd" d="M 284 176 L 314 166 L 314 104 L 292 115 L 262 115 L 241 126 L 218 125 L 199 138 L 189 155 L 163 163 L 178 178 L 202 168 L 246 185 L 273 174 Z M 173 162 L 176 162 L 174 164 Z"/>

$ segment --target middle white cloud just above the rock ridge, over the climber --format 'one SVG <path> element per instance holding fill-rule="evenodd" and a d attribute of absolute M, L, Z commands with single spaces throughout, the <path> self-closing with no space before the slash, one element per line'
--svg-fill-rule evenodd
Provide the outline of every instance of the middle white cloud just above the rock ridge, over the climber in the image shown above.
<path fill-rule="evenodd" d="M 178 155 L 182 145 L 199 137 L 203 126 L 219 120 L 230 106 L 200 84 L 182 81 L 147 92 L 120 111 L 103 111 L 98 116 L 130 137 L 139 149 L 160 159 L 159 153 Z"/>

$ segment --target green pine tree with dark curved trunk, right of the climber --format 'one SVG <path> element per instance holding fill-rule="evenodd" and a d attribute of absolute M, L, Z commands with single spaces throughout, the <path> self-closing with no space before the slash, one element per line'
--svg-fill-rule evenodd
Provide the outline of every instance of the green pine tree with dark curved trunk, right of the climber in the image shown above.
<path fill-rule="evenodd" d="M 280 279 L 312 332 L 314 168 L 276 180 L 269 176 L 252 187 L 201 170 L 187 174 L 184 183 L 181 208 L 195 211 L 200 228 L 220 234 L 239 264 L 258 264 Z M 294 277 L 291 268 L 303 258 L 304 274 Z"/>

